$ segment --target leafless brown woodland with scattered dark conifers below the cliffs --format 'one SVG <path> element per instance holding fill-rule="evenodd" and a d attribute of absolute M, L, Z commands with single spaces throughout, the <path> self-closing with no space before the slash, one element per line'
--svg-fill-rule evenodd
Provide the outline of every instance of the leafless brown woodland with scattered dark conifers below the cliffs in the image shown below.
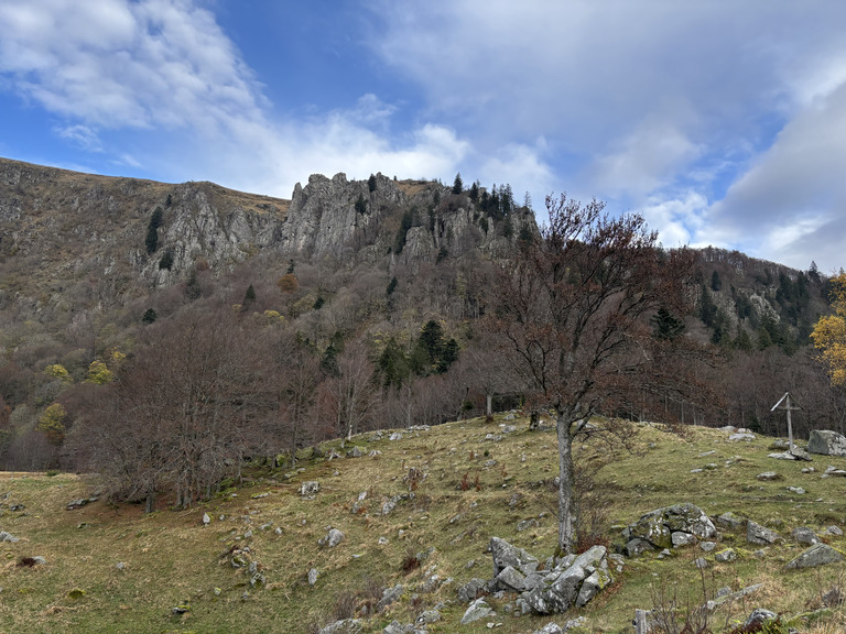
<path fill-rule="evenodd" d="M 166 283 L 107 293 L 89 277 L 65 293 L 72 308 L 50 318 L 10 300 L 7 285 L 0 468 L 98 471 L 112 499 L 153 510 L 208 498 L 245 464 L 294 466 L 328 438 L 518 407 L 549 417 L 497 326 L 514 262 L 544 244 L 527 221 L 528 196 L 519 206 L 510 186 L 466 188 L 460 175 L 452 186 L 417 182 L 416 205 L 391 190 L 395 204 L 368 223 L 392 183 L 379 175 L 344 186 L 361 221 L 329 254 L 252 248 L 225 266 L 188 259 L 167 238 L 180 204 L 169 192 L 138 214 L 133 232 L 141 260 Z M 466 219 L 460 233 L 456 214 Z M 683 300 L 650 304 L 638 324 L 653 343 L 684 341 L 686 351 L 654 357 L 649 374 L 619 374 L 626 398 L 597 413 L 783 435 L 783 416 L 770 409 L 790 391 L 802 407 L 794 434 L 844 433 L 846 391 L 832 385 L 810 339 L 831 313 L 831 278 L 813 264 L 685 253 Z M 4 273 L 20 274 L 21 256 L 4 249 Z"/>

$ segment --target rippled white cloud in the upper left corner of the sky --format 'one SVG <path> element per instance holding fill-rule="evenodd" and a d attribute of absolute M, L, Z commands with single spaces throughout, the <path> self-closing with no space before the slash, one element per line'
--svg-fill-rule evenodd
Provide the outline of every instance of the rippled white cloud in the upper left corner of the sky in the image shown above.
<path fill-rule="evenodd" d="M 89 128 L 259 117 L 261 95 L 208 11 L 184 0 L 32 0 L 0 7 L 0 70 Z"/>

